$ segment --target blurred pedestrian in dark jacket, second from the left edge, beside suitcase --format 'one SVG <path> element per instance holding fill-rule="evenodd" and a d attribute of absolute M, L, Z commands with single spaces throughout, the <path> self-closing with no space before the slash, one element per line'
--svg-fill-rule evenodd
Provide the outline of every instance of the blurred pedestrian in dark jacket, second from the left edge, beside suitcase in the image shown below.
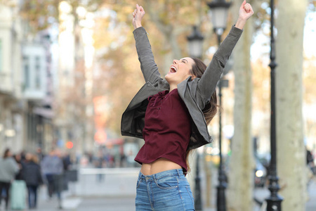
<path fill-rule="evenodd" d="M 37 188 L 43 184 L 41 167 L 37 155 L 27 153 L 25 155 L 25 169 L 23 170 L 23 178 L 27 185 L 29 209 L 37 208 Z"/>

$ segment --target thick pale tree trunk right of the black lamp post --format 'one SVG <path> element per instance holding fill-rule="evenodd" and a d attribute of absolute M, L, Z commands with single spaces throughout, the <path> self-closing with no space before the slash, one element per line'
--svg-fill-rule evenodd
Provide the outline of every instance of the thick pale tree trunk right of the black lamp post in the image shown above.
<path fill-rule="evenodd" d="M 307 1 L 279 1 L 276 20 L 277 171 L 282 210 L 305 210 L 306 162 L 303 142 L 303 27 Z"/>

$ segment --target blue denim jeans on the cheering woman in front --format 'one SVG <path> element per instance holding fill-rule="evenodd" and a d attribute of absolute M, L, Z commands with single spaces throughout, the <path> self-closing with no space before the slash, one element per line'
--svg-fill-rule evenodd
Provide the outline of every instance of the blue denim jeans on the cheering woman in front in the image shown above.
<path fill-rule="evenodd" d="M 194 198 L 183 170 L 138 175 L 136 211 L 195 210 Z"/>

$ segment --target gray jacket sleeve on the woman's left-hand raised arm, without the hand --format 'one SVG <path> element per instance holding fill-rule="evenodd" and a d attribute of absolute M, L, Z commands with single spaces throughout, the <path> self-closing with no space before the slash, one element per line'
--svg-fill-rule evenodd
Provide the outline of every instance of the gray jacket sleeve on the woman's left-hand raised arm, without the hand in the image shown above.
<path fill-rule="evenodd" d="M 133 31 L 133 34 L 136 41 L 140 69 L 143 72 L 145 82 L 151 82 L 153 84 L 158 79 L 161 79 L 161 77 L 158 72 L 157 64 L 154 62 L 154 55 L 152 54 L 147 32 L 144 27 L 138 27 Z"/>

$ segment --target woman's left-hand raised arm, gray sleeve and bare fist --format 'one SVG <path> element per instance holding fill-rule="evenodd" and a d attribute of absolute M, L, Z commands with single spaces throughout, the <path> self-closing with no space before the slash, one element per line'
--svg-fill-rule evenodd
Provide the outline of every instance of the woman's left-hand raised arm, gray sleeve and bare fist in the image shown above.
<path fill-rule="evenodd" d="M 145 82 L 156 82 L 160 79 L 160 74 L 156 63 L 154 62 L 154 55 L 152 54 L 152 48 L 150 41 L 147 37 L 147 32 L 142 27 L 142 19 L 145 15 L 145 11 L 142 6 L 136 4 L 136 9 L 133 12 L 133 27 L 134 38 L 136 41 L 136 50 L 138 53 L 138 60 L 140 61 L 140 69 L 143 72 Z"/>

